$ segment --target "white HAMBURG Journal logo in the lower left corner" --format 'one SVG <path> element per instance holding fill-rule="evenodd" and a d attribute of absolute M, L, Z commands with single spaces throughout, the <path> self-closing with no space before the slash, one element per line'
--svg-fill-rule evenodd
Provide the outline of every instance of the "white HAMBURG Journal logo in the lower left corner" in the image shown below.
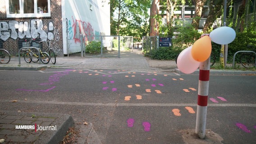
<path fill-rule="evenodd" d="M 35 130 L 41 131 L 41 130 L 57 130 L 57 126 L 39 126 L 35 123 L 35 125 L 16 125 L 16 130 Z"/>

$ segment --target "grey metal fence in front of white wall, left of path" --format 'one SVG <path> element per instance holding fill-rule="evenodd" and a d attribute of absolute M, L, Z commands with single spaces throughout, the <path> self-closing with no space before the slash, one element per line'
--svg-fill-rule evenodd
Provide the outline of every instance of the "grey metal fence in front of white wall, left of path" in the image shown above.
<path fill-rule="evenodd" d="M 93 36 L 93 40 L 80 35 L 79 39 L 67 40 L 68 56 L 118 57 L 120 51 L 133 47 L 133 36 Z"/>

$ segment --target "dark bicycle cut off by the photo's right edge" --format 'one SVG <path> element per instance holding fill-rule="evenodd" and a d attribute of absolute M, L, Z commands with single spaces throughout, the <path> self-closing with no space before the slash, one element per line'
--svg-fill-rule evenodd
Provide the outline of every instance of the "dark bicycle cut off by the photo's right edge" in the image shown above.
<path fill-rule="evenodd" d="M 255 52 L 255 46 L 247 45 L 247 47 L 251 47 L 252 51 L 242 52 L 240 63 L 246 68 L 256 67 L 256 55 L 253 53 Z"/>

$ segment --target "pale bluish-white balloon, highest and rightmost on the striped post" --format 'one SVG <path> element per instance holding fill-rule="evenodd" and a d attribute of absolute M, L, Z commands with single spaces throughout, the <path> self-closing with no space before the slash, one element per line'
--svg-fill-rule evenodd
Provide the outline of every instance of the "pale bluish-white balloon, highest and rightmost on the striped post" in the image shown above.
<path fill-rule="evenodd" d="M 209 36 L 216 44 L 227 45 L 236 38 L 236 31 L 231 27 L 218 27 Z"/>

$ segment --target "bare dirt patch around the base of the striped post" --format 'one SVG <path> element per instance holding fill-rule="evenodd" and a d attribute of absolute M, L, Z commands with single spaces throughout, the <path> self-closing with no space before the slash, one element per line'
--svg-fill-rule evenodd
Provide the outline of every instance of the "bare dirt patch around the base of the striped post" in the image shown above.
<path fill-rule="evenodd" d="M 205 139 L 200 139 L 194 129 L 180 130 L 179 133 L 182 134 L 185 144 L 222 144 L 221 141 L 223 140 L 218 134 L 208 129 Z"/>

